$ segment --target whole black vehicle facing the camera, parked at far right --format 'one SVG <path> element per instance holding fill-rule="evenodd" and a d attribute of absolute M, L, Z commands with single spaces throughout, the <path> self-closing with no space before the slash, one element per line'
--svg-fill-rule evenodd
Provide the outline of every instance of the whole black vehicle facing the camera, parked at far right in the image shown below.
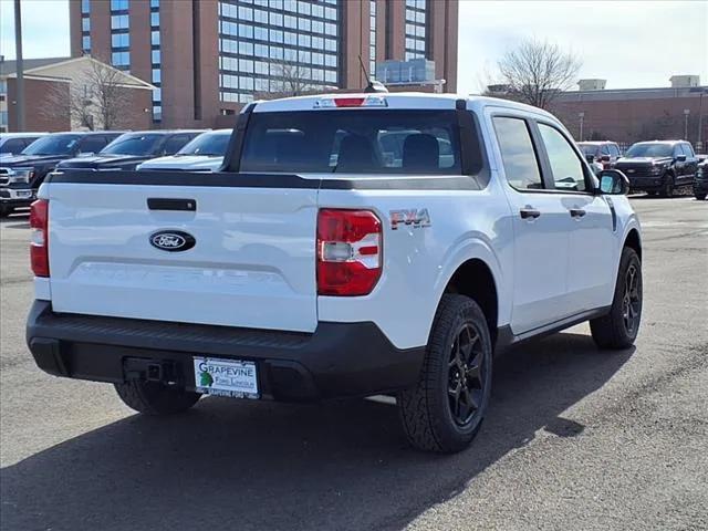
<path fill-rule="evenodd" d="M 674 189 L 694 184 L 698 158 L 685 140 L 654 140 L 634 144 L 615 169 L 624 173 L 633 190 L 670 197 Z"/>

